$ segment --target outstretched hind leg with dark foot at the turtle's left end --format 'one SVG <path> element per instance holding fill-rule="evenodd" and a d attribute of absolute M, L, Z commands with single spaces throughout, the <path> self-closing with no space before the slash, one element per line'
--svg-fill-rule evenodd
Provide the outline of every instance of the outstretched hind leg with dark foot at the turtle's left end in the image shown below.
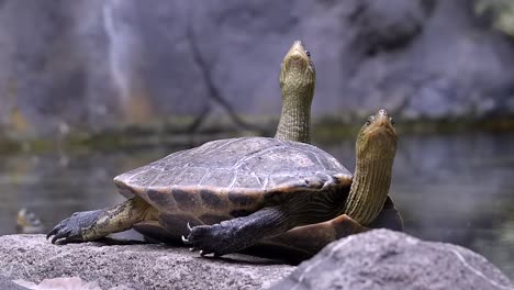
<path fill-rule="evenodd" d="M 133 198 L 115 207 L 76 212 L 58 223 L 47 235 L 52 243 L 89 242 L 122 232 L 147 219 L 155 211 L 141 198 Z"/>

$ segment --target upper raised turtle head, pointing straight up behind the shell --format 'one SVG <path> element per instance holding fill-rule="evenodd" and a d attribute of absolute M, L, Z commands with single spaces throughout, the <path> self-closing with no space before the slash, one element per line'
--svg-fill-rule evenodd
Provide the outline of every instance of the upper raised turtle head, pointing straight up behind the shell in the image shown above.
<path fill-rule="evenodd" d="M 280 68 L 280 89 L 282 99 L 301 98 L 302 103 L 311 105 L 314 96 L 316 71 L 311 54 L 301 41 L 295 41 L 286 54 Z"/>

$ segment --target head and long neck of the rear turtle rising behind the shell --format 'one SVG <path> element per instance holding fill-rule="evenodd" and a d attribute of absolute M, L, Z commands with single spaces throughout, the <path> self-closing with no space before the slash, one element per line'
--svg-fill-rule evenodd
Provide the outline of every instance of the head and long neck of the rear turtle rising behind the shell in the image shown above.
<path fill-rule="evenodd" d="M 311 104 L 314 97 L 316 70 L 311 53 L 295 41 L 280 67 L 282 110 L 276 138 L 311 143 Z"/>

